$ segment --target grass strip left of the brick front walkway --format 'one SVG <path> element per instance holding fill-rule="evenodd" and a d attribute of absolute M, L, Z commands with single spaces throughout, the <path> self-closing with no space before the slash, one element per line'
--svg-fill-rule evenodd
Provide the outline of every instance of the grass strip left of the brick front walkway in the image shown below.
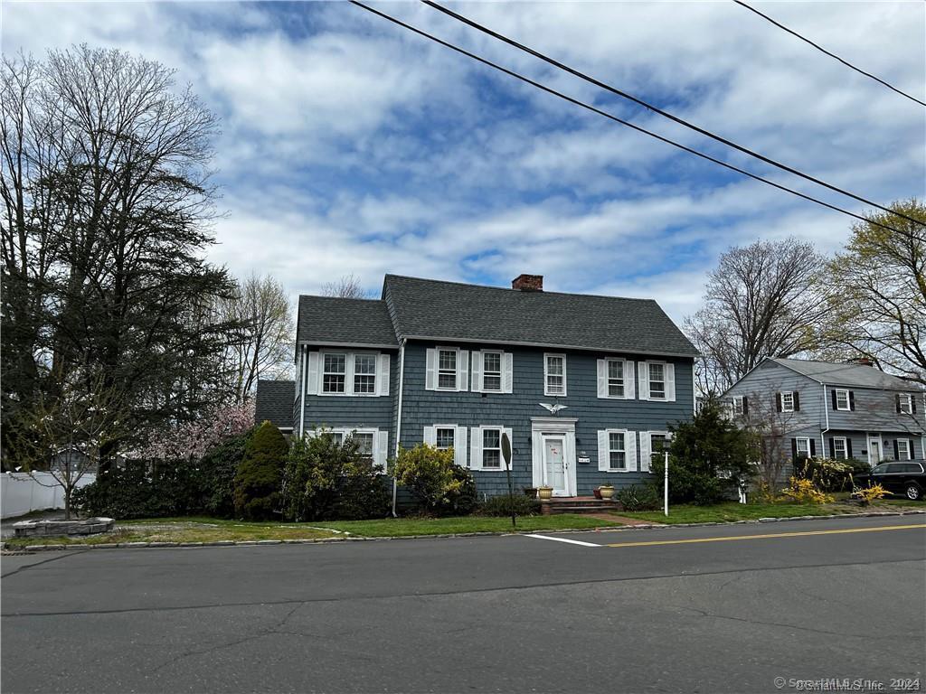
<path fill-rule="evenodd" d="M 619 526 L 618 521 L 587 515 L 537 515 L 518 519 L 519 531 Z M 215 542 L 219 540 L 323 539 L 350 534 L 364 538 L 400 538 L 408 535 L 508 532 L 510 518 L 462 516 L 455 518 L 387 518 L 369 521 L 318 523 L 254 523 L 218 518 L 138 518 L 119 521 L 116 530 L 90 538 L 11 538 L 11 549 L 45 544 L 107 544 L 111 542 Z"/>

